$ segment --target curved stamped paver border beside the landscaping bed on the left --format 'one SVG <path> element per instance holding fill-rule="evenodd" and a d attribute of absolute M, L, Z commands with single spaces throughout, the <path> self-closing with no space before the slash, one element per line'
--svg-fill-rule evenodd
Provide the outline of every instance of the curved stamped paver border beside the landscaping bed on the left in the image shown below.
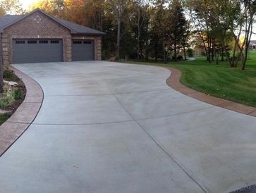
<path fill-rule="evenodd" d="M 42 88 L 35 80 L 16 68 L 11 67 L 11 69 L 24 82 L 27 94 L 11 118 L 0 126 L 0 157 L 35 120 L 44 99 Z"/>

